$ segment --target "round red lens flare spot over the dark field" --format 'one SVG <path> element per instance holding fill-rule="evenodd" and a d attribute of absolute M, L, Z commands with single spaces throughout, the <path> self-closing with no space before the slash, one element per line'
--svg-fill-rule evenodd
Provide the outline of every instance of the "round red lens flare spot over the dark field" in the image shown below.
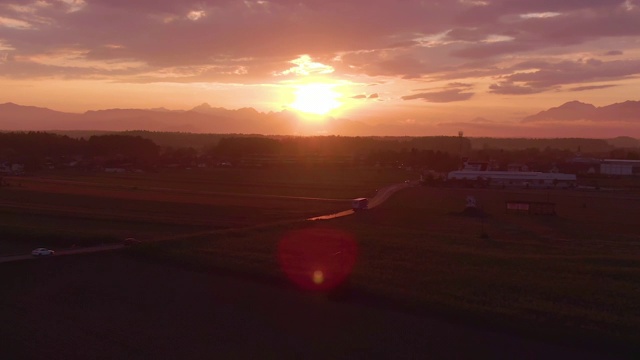
<path fill-rule="evenodd" d="M 353 237 L 336 229 L 295 230 L 287 233 L 278 246 L 283 272 L 306 290 L 337 288 L 351 274 L 357 256 Z"/>

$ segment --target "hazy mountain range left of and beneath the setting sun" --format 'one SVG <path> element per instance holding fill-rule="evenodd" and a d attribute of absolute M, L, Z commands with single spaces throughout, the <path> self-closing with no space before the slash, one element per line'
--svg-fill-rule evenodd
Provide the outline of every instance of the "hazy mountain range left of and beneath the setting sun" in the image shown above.
<path fill-rule="evenodd" d="M 47 108 L 0 104 L 0 131 L 147 130 L 218 134 L 319 134 L 358 135 L 369 133 L 369 125 L 345 119 L 306 121 L 292 111 L 261 113 L 253 108 L 228 110 L 201 104 L 191 110 L 107 109 L 82 114 Z"/>

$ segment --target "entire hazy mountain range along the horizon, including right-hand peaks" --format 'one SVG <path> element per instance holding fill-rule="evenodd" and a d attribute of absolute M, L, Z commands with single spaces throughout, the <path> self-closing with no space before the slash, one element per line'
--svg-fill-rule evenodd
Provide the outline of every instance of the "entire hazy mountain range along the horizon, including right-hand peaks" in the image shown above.
<path fill-rule="evenodd" d="M 625 101 L 603 107 L 570 101 L 561 106 L 527 116 L 520 123 L 523 125 L 545 122 L 568 124 L 576 123 L 578 120 L 596 123 L 616 121 L 629 125 L 633 123 L 637 126 L 640 125 L 640 101 Z M 489 122 L 489 120 L 484 121 L 484 123 Z M 473 121 L 469 123 L 474 124 Z M 400 128 L 397 124 L 369 125 L 362 121 L 332 117 L 322 117 L 322 121 L 309 121 L 301 118 L 297 113 L 287 110 L 262 113 L 253 108 L 229 110 L 212 107 L 206 103 L 190 110 L 107 109 L 87 111 L 81 114 L 5 103 L 0 104 L 0 130 L 147 130 L 217 134 L 335 134 L 343 136 L 385 136 L 397 135 L 398 132 L 407 134 L 412 131 L 416 136 L 422 135 L 420 134 L 421 129 L 418 127 L 407 129 L 406 127 Z"/>

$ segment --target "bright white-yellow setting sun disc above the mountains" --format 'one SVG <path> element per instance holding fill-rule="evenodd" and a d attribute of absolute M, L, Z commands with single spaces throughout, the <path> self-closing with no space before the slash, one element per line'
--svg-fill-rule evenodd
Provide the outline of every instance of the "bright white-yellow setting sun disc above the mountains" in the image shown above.
<path fill-rule="evenodd" d="M 325 115 L 342 103 L 337 99 L 341 96 L 333 90 L 330 84 L 301 85 L 295 92 L 295 100 L 291 107 L 305 113 Z"/>

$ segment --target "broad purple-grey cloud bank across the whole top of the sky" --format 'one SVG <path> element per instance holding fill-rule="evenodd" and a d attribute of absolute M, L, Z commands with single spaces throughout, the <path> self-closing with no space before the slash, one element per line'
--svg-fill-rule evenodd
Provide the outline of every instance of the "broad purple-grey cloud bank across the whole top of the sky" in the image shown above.
<path fill-rule="evenodd" d="M 485 5 L 437 0 L 85 0 L 77 7 L 50 0 L 50 6 L 37 5 L 43 3 L 0 2 L 0 16 L 31 26 L 0 25 L 0 47 L 10 47 L 11 56 L 24 63 L 73 51 L 80 60 L 106 64 L 91 70 L 106 69 L 104 76 L 111 75 L 109 64 L 145 64 L 137 67 L 132 81 L 268 81 L 290 68 L 291 60 L 309 54 L 333 66 L 336 77 L 465 81 L 506 75 L 501 81 L 507 85 L 539 89 L 553 85 L 509 78 L 517 73 L 508 73 L 502 62 L 514 54 L 524 57 L 567 44 L 640 35 L 640 6 L 623 0 L 494 0 Z M 532 13 L 551 15 L 521 16 Z M 632 52 L 620 47 L 606 55 L 625 53 Z M 49 67 L 49 75 L 77 70 L 64 67 Z M 614 69 L 609 72 L 602 76 L 615 79 Z M 620 73 L 618 77 L 633 72 Z"/>

